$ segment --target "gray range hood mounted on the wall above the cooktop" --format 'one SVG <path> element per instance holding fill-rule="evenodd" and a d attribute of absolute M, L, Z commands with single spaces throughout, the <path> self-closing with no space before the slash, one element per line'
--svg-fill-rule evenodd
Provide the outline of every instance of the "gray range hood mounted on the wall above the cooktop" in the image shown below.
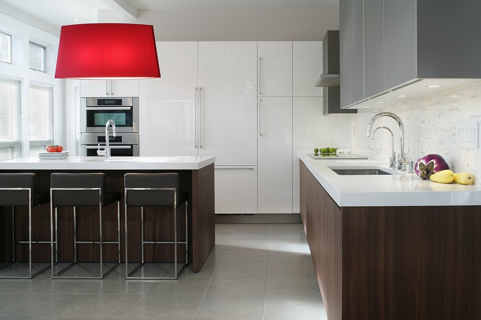
<path fill-rule="evenodd" d="M 323 72 L 317 87 L 323 89 L 323 114 L 358 113 L 357 109 L 341 109 L 341 78 L 339 77 L 339 30 L 329 30 L 322 42 Z"/>

